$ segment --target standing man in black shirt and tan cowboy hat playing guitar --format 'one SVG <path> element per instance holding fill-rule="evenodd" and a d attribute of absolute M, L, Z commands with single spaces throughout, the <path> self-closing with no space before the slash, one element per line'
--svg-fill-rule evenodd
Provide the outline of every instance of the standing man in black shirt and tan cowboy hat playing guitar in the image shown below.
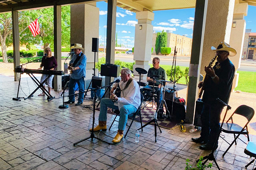
<path fill-rule="evenodd" d="M 219 104 L 216 98 L 219 98 L 225 103 L 228 103 L 232 82 L 235 74 L 235 66 L 229 60 L 228 56 L 236 55 L 236 50 L 231 48 L 229 44 L 221 42 L 217 49 L 212 46 L 212 50 L 216 51 L 217 62 L 213 67 L 205 67 L 204 70 L 209 76 L 204 80 L 204 94 L 202 101 L 204 106 L 201 113 L 202 132 L 201 136 L 192 138 L 196 143 L 204 142 L 199 146 L 203 150 L 212 150 L 215 139 L 218 137 L 220 128 L 220 115 L 223 106 Z M 198 84 L 202 88 L 203 82 Z M 217 149 L 218 145 L 215 149 Z"/>

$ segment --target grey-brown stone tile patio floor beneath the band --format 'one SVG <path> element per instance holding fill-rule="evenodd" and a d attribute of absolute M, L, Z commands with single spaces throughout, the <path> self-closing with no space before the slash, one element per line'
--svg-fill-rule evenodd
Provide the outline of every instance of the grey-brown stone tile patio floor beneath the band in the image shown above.
<path fill-rule="evenodd" d="M 140 132 L 140 142 L 136 144 L 135 129 L 140 124 L 134 122 L 119 145 L 108 145 L 94 139 L 73 146 L 74 142 L 90 135 L 88 128 L 92 124 L 92 111 L 86 105 L 91 105 L 91 102 L 84 102 L 83 107 L 71 104 L 68 109 L 58 109 L 62 98 L 47 102 L 42 100 L 44 97 L 36 96 L 13 101 L 17 87 L 18 82 L 14 82 L 13 77 L 0 75 L 0 170 L 183 170 L 187 158 L 193 164 L 200 156 L 209 154 L 209 151 L 199 150 L 199 144 L 190 140 L 200 133 L 189 133 L 192 125 L 186 126 L 185 133 L 178 128 L 162 128 L 162 133 L 157 131 L 156 143 L 153 126 L 147 126 Z M 22 78 L 21 87 L 28 96 L 36 86 L 30 78 Z M 20 91 L 20 97 L 25 96 L 23 92 Z M 59 96 L 58 92 L 51 92 L 56 98 Z M 239 105 L 243 102 L 245 99 L 236 99 Z M 98 114 L 97 111 L 96 120 Z M 112 119 L 113 115 L 108 115 L 108 127 Z M 255 126 L 254 119 L 250 128 Z M 115 125 L 106 134 L 113 137 L 116 130 Z M 112 140 L 102 132 L 96 135 Z M 254 135 L 251 133 L 250 137 L 255 140 Z M 225 137 L 232 140 L 232 136 Z M 252 160 L 243 153 L 245 144 L 238 141 L 222 158 L 227 147 L 227 143 L 219 139 L 215 155 L 221 169 L 245 170 L 244 165 Z M 248 168 L 251 169 L 252 165 Z M 217 168 L 214 165 L 212 169 Z"/>

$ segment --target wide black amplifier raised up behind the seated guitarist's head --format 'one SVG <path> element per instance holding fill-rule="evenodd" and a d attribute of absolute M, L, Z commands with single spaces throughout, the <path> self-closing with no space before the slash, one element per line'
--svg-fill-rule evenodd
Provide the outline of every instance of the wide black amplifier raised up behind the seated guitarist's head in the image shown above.
<path fill-rule="evenodd" d="M 120 76 L 120 65 L 101 64 L 100 75 L 108 76 L 108 77 L 119 77 Z"/>

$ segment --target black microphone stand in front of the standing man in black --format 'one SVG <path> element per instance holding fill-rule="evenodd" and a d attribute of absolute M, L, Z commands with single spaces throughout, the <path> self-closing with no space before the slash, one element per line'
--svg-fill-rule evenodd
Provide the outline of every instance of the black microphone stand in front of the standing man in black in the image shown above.
<path fill-rule="evenodd" d="M 214 153 L 214 150 L 215 150 L 215 148 L 216 148 L 216 146 L 217 146 L 217 144 L 218 144 L 218 139 L 219 139 L 219 136 L 220 136 L 220 133 L 221 133 L 221 128 L 222 128 L 222 126 L 223 126 L 223 124 L 224 124 L 224 121 L 225 121 L 227 112 L 228 112 L 228 110 L 231 109 L 231 107 L 230 107 L 229 105 L 227 105 L 226 103 L 224 103 L 224 102 L 223 102 L 222 100 L 220 100 L 219 98 L 217 98 L 216 100 L 218 100 L 221 104 L 227 106 L 227 109 L 226 109 L 224 118 L 223 118 L 223 120 L 222 120 L 222 123 L 221 123 L 220 129 L 219 129 L 218 135 L 217 135 L 217 137 L 216 137 L 216 139 L 215 139 L 215 142 L 214 142 L 214 145 L 213 145 L 213 148 L 212 148 L 212 152 L 211 152 L 209 155 L 203 157 L 203 160 L 205 160 L 205 159 L 206 159 L 206 160 L 205 160 L 205 162 L 202 163 L 202 165 L 204 165 L 208 160 L 214 161 L 214 163 L 216 164 L 217 168 L 220 170 L 220 167 L 219 167 L 219 165 L 217 164 L 216 159 L 214 158 L 213 153 Z M 199 161 L 199 160 L 197 160 L 196 162 L 198 162 L 198 161 Z"/>

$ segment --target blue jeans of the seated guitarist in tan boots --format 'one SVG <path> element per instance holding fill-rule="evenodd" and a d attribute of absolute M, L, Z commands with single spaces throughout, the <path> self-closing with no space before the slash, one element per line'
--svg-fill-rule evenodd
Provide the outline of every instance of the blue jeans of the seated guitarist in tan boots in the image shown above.
<path fill-rule="evenodd" d="M 107 121 L 107 110 L 108 108 L 118 110 L 118 106 L 114 105 L 114 102 L 111 99 L 103 98 L 100 102 L 100 115 L 99 115 L 99 121 Z M 118 129 L 124 130 L 128 115 L 134 113 L 137 111 L 137 109 L 133 105 L 124 105 L 120 108 L 120 114 L 119 114 L 119 123 L 118 123 Z"/>

